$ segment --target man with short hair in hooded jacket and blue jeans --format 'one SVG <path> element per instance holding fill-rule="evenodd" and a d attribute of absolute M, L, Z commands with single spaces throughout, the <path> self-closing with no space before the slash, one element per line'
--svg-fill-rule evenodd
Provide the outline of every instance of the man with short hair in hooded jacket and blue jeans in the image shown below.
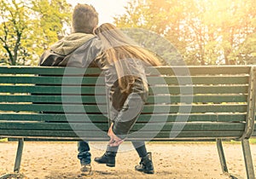
<path fill-rule="evenodd" d="M 87 4 L 76 5 L 73 10 L 73 32 L 46 50 L 40 57 L 39 65 L 88 67 L 84 65 L 88 64 L 84 62 L 84 55 L 92 61 L 101 50 L 101 43 L 93 35 L 97 24 L 98 14 L 94 7 Z M 82 175 L 90 175 L 91 156 L 88 142 L 79 141 L 78 150 Z"/>

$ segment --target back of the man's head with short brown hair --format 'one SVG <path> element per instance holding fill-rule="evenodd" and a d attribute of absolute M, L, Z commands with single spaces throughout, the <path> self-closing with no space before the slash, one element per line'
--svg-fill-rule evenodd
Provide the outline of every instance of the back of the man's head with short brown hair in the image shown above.
<path fill-rule="evenodd" d="M 78 4 L 73 10 L 73 32 L 92 33 L 98 25 L 98 13 L 93 6 Z"/>

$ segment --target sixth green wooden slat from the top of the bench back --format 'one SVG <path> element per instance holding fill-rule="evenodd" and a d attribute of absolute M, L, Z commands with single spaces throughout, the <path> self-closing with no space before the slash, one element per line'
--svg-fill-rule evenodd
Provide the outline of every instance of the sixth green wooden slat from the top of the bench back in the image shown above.
<path fill-rule="evenodd" d="M 49 122 L 92 122 L 108 121 L 102 114 L 49 114 L 49 113 L 0 113 L 0 120 L 19 121 L 49 121 Z M 170 113 L 170 114 L 142 114 L 137 123 L 175 122 L 175 121 L 209 121 L 209 122 L 242 122 L 246 121 L 245 113 Z"/>

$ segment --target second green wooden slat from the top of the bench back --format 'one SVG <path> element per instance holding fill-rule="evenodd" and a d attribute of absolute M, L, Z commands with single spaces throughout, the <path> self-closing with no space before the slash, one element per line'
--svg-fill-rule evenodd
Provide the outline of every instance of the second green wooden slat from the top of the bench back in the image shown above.
<path fill-rule="evenodd" d="M 105 84 L 103 77 L 0 76 L 0 84 Z M 148 84 L 248 84 L 246 76 L 148 77 Z"/>

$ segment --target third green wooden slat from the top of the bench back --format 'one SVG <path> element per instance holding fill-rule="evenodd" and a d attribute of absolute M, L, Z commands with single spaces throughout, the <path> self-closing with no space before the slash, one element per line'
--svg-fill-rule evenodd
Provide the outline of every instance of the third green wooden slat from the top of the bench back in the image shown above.
<path fill-rule="evenodd" d="M 22 86 L 3 85 L 0 86 L 0 93 L 34 93 L 34 94 L 105 94 L 103 86 Z M 192 94 L 247 94 L 247 86 L 152 86 L 149 89 L 151 94 L 167 95 L 192 95 Z"/>

